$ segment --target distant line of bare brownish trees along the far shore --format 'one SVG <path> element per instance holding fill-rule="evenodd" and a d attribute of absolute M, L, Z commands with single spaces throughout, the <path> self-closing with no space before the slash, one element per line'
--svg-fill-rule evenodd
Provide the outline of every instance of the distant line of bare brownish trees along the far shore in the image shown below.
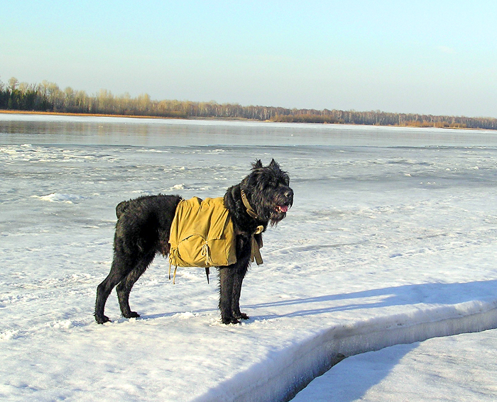
<path fill-rule="evenodd" d="M 27 84 L 18 82 L 18 79 L 14 77 L 9 79 L 7 84 L 0 81 L 0 109 L 173 118 L 241 118 L 288 123 L 497 129 L 497 118 L 432 116 L 383 111 L 289 109 L 273 106 L 217 104 L 215 101 L 155 101 L 148 94 L 132 98 L 128 93 L 116 96 L 107 89 L 101 89 L 97 94 L 88 95 L 85 91 L 75 91 L 70 86 L 62 90 L 53 82 Z"/>

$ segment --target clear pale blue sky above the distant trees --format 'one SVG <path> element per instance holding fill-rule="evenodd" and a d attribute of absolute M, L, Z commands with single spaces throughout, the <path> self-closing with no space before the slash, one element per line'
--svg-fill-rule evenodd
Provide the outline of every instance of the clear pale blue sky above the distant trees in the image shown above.
<path fill-rule="evenodd" d="M 497 1 L 0 0 L 0 79 L 497 118 Z"/>

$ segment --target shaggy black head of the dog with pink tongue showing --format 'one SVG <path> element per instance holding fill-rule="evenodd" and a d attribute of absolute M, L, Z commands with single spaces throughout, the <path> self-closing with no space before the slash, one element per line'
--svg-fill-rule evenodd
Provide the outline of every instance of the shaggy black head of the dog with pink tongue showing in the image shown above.
<path fill-rule="evenodd" d="M 252 171 L 240 184 L 257 215 L 271 225 L 285 218 L 293 205 L 293 190 L 290 189 L 288 173 L 271 160 L 264 167 L 261 160 L 252 164 Z"/>

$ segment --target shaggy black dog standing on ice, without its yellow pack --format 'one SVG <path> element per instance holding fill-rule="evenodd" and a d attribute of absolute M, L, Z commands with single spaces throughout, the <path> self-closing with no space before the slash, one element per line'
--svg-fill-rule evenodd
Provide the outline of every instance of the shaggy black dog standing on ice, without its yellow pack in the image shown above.
<path fill-rule="evenodd" d="M 224 324 L 239 323 L 249 318 L 240 311 L 239 298 L 243 281 L 251 262 L 252 238 L 262 245 L 258 226 L 266 230 L 268 223 L 275 225 L 285 218 L 293 205 L 290 179 L 272 160 L 263 167 L 261 160 L 253 164 L 251 173 L 224 194 L 224 206 L 234 223 L 236 233 L 236 263 L 219 269 L 219 310 Z M 242 199 L 244 194 L 246 200 Z M 167 255 L 170 250 L 170 227 L 180 196 L 143 196 L 123 201 L 116 206 L 116 234 L 114 235 L 114 261 L 111 271 L 97 288 L 95 320 L 109 321 L 104 307 L 116 287 L 119 307 L 125 318 L 139 317 L 129 307 L 129 293 L 133 284 L 145 272 L 156 254 Z M 248 203 L 246 202 L 248 201 Z"/>

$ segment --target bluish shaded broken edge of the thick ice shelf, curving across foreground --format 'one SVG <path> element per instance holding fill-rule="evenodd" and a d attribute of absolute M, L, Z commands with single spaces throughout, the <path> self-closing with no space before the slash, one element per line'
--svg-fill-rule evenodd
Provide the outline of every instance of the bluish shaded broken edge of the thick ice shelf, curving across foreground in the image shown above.
<path fill-rule="evenodd" d="M 497 328 L 497 299 L 434 306 L 339 325 L 304 342 L 271 353 L 266 361 L 236 374 L 194 402 L 290 401 L 344 357 L 432 337 Z"/>

